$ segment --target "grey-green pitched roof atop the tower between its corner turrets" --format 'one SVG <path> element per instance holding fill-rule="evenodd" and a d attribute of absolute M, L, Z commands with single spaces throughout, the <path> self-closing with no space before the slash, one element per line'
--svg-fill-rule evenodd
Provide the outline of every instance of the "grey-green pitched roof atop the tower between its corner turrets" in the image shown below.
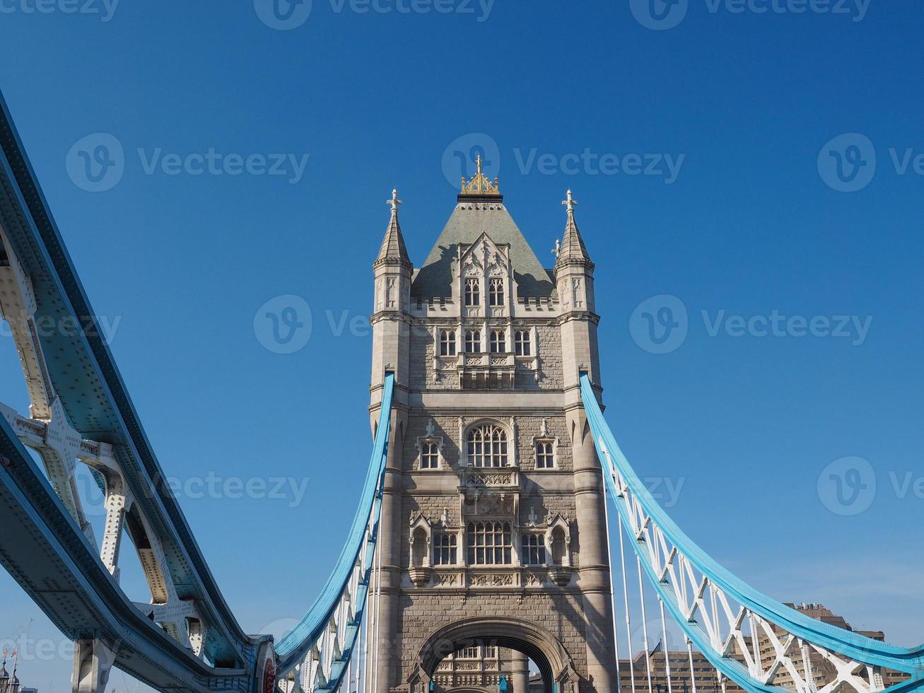
<path fill-rule="evenodd" d="M 482 232 L 487 233 L 494 243 L 510 246 L 514 280 L 521 297 L 549 298 L 553 295 L 551 272 L 542 267 L 536 253 L 529 248 L 526 238 L 499 201 L 460 201 L 456 205 L 436 245 L 414 275 L 411 295 L 421 298 L 451 296 L 456 248 L 460 243 L 474 243 Z"/>

